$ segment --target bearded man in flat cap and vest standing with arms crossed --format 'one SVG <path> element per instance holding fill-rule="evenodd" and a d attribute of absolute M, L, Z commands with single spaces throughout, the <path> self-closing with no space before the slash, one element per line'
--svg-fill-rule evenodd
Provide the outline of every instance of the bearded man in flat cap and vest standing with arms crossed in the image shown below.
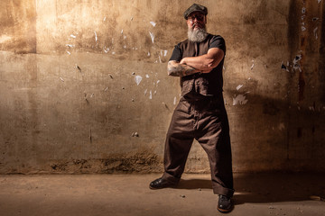
<path fill-rule="evenodd" d="M 168 75 L 181 77 L 181 99 L 176 106 L 164 150 L 164 173 L 151 189 L 176 187 L 193 139 L 209 158 L 217 209 L 232 210 L 233 174 L 228 115 L 222 95 L 225 40 L 206 31 L 208 9 L 192 4 L 184 13 L 188 39 L 177 44 L 168 62 Z"/>

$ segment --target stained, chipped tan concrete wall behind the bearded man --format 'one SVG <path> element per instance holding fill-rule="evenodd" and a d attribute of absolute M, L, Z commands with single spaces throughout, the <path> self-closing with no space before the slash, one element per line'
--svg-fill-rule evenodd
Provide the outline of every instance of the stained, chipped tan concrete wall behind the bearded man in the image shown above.
<path fill-rule="evenodd" d="M 0 173 L 162 171 L 192 3 L 3 0 Z M 234 171 L 325 171 L 324 1 L 197 3 L 227 41 Z M 198 143 L 186 170 L 209 172 Z"/>

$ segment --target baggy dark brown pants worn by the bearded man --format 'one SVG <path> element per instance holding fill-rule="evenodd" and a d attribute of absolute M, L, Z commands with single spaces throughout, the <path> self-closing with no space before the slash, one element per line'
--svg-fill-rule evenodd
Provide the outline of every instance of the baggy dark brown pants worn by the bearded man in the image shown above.
<path fill-rule="evenodd" d="M 208 154 L 213 193 L 232 196 L 229 125 L 222 95 L 217 99 L 181 97 L 166 136 L 164 179 L 172 183 L 180 181 L 193 139 Z"/>

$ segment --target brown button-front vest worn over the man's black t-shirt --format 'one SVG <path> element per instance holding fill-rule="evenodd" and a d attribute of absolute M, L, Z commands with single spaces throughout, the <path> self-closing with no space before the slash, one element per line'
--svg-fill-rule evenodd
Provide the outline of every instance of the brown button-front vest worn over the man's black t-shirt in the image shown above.
<path fill-rule="evenodd" d="M 210 40 L 213 35 L 209 34 L 207 39 L 198 43 L 184 40 L 181 42 L 180 48 L 182 58 L 196 57 L 208 53 Z M 216 96 L 222 94 L 223 68 L 224 58 L 218 64 L 218 67 L 213 68 L 208 74 L 194 74 L 181 77 L 181 95 L 186 94 L 201 94 L 205 96 Z"/>

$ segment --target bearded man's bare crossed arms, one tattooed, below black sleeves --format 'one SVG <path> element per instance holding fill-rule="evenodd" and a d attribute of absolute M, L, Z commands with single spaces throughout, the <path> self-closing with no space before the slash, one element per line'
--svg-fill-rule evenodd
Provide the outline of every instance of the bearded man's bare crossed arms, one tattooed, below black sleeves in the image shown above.
<path fill-rule="evenodd" d="M 189 76 L 196 73 L 209 73 L 217 67 L 224 51 L 218 48 L 211 48 L 208 53 L 198 57 L 182 58 L 181 62 L 171 60 L 168 62 L 167 72 L 169 76 Z"/>

